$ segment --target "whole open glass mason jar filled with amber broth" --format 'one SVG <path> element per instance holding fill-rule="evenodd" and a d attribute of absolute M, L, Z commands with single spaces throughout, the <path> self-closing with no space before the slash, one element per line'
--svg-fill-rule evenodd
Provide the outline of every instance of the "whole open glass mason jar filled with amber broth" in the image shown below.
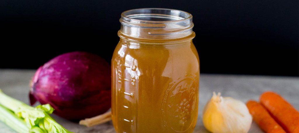
<path fill-rule="evenodd" d="M 190 13 L 135 9 L 121 14 L 112 57 L 112 121 L 117 133 L 192 133 L 199 57 Z"/>

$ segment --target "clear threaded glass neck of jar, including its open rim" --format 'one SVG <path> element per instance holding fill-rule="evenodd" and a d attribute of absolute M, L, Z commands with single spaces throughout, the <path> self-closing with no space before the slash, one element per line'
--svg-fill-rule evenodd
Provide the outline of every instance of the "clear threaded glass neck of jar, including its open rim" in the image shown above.
<path fill-rule="evenodd" d="M 121 14 L 120 34 L 131 38 L 172 40 L 194 34 L 190 13 L 161 8 L 128 10 Z"/>

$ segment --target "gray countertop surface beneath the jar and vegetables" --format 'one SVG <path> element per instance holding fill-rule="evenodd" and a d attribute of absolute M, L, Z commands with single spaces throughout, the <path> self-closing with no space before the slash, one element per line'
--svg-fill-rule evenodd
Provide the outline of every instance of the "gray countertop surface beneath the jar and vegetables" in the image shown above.
<path fill-rule="evenodd" d="M 0 69 L 0 88 L 4 93 L 13 98 L 29 104 L 29 81 L 34 70 Z M 299 78 L 278 76 L 253 76 L 253 75 L 200 75 L 199 89 L 199 116 L 194 133 L 208 133 L 202 124 L 202 111 L 211 98 L 212 92 L 221 92 L 222 96 L 233 97 L 246 102 L 250 99 L 258 100 L 261 93 L 274 91 L 283 96 L 297 110 L 299 109 Z M 0 114 L 1 115 L 1 114 Z M 56 115 L 54 119 L 77 133 L 115 133 L 112 122 L 87 128 L 80 126 Z M 12 129 L 0 122 L 0 133 L 15 133 Z M 249 133 L 262 133 L 254 122 Z"/>

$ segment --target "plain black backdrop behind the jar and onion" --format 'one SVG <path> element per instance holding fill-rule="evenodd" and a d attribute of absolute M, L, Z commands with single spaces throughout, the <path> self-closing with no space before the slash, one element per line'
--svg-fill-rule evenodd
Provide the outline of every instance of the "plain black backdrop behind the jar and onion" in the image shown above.
<path fill-rule="evenodd" d="M 201 73 L 299 75 L 298 0 L 2 0 L 0 68 L 37 69 L 70 51 L 110 62 L 120 14 L 145 7 L 193 15 Z"/>

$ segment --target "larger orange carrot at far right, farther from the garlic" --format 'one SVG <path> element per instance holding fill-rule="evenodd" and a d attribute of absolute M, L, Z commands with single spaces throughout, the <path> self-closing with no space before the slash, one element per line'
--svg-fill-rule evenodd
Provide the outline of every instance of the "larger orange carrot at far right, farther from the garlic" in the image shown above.
<path fill-rule="evenodd" d="M 286 132 L 299 133 L 299 112 L 280 95 L 264 92 L 260 96 L 260 103 Z"/>

